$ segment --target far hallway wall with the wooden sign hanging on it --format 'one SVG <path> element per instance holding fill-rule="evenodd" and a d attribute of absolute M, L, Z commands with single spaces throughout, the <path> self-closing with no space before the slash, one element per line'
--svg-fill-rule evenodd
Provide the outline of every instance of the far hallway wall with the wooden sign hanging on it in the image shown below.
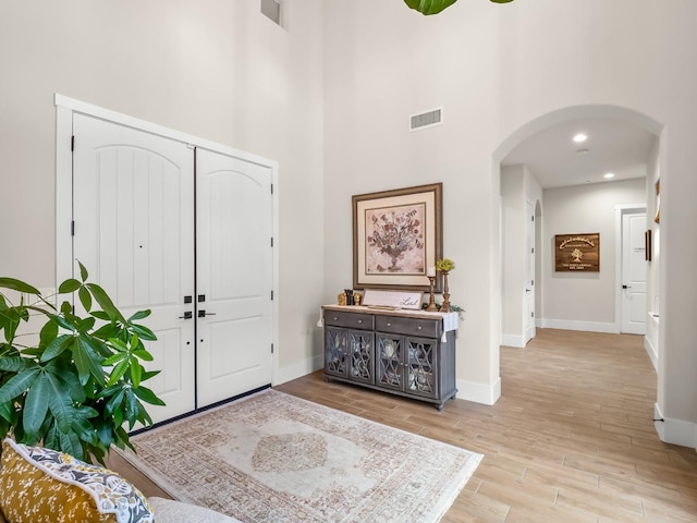
<path fill-rule="evenodd" d="M 545 327 L 617 332 L 615 206 L 646 203 L 646 179 L 545 191 Z M 599 272 L 554 271 L 554 235 L 600 233 Z"/>

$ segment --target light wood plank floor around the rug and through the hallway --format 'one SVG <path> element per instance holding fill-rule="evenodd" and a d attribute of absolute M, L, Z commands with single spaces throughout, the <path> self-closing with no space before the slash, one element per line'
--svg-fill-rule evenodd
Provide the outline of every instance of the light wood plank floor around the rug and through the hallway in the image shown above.
<path fill-rule="evenodd" d="M 485 454 L 443 523 L 697 522 L 697 453 L 656 435 L 643 340 L 539 329 L 526 349 L 501 349 L 493 406 L 451 400 L 439 413 L 321 373 L 277 389 Z M 111 466 L 156 494 L 124 463 Z"/>

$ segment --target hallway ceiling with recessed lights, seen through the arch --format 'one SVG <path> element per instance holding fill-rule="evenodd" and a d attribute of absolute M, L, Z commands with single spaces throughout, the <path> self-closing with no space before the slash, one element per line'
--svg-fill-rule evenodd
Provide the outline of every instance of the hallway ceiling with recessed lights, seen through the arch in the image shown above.
<path fill-rule="evenodd" d="M 579 133 L 588 138 L 574 143 Z M 542 188 L 644 178 L 655 139 L 653 134 L 622 120 L 575 120 L 526 138 L 501 163 L 526 165 Z M 614 178 L 604 179 L 608 172 Z"/>

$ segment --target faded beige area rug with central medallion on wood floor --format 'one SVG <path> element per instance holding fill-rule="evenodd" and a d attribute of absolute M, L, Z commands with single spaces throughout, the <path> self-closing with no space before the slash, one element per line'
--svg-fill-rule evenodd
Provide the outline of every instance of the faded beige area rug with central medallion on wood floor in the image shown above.
<path fill-rule="evenodd" d="M 132 442 L 174 498 L 247 523 L 437 522 L 482 458 L 270 389 Z"/>

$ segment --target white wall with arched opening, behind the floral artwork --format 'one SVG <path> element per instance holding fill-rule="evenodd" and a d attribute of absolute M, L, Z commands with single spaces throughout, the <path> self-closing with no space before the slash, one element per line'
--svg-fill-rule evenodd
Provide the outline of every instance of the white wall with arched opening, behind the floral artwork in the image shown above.
<path fill-rule="evenodd" d="M 458 388 L 461 396 L 496 399 L 499 161 L 546 123 L 541 117 L 586 105 L 622 108 L 652 132 L 664 129 L 660 287 L 668 346 L 659 404 L 667 417 L 697 421 L 697 238 L 684 234 L 697 222 L 695 0 L 673 0 L 670 9 L 652 0 L 462 1 L 429 17 L 400 1 L 326 0 L 325 9 L 325 297 L 351 278 L 352 194 L 442 181 L 444 253 L 458 264 L 451 294 L 467 311 Z M 408 114 L 439 106 L 443 125 L 407 132 Z"/>

